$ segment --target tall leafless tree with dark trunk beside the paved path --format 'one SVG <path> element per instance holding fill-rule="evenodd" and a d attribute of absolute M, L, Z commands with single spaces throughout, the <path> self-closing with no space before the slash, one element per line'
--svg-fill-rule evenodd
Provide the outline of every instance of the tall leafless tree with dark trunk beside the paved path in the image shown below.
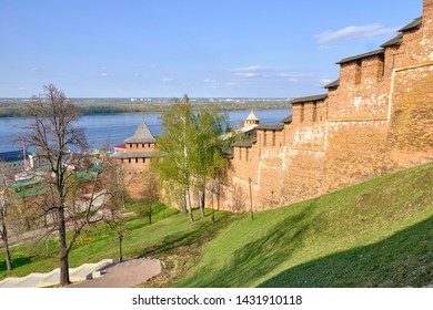
<path fill-rule="evenodd" d="M 40 210 L 51 215 L 44 236 L 58 232 L 60 286 L 70 283 L 69 252 L 85 226 L 105 218 L 101 186 L 102 169 L 91 173 L 87 157 L 71 161 L 71 151 L 84 154 L 88 148 L 84 130 L 77 126 L 80 118 L 75 105 L 54 85 L 43 86 L 43 96 L 33 96 L 28 111 L 31 123 L 23 126 L 20 137 L 48 162 L 46 194 Z M 67 228 L 72 230 L 67 236 Z"/>

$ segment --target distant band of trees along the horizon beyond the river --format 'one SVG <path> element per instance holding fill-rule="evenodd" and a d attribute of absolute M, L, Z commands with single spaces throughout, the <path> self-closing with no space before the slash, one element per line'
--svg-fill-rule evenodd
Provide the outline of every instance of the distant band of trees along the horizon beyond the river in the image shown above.
<path fill-rule="evenodd" d="M 170 107 L 170 103 L 78 103 L 78 110 L 83 115 L 97 114 L 138 114 L 164 112 Z M 223 111 L 236 110 L 271 110 L 291 108 L 286 101 L 248 101 L 248 102 L 219 102 L 219 103 L 193 103 L 195 110 L 205 110 L 210 106 L 218 106 Z M 24 103 L 1 104 L 0 117 L 27 117 L 30 116 Z"/>

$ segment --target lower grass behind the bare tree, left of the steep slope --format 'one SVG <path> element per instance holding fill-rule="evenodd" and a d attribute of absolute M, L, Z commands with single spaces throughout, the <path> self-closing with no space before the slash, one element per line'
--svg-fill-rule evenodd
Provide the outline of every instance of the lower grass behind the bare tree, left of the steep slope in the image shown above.
<path fill-rule="evenodd" d="M 123 258 L 160 257 L 167 265 L 162 280 L 158 286 L 170 286 L 197 265 L 203 244 L 214 238 L 221 229 L 232 223 L 236 215 L 216 213 L 219 225 L 213 225 L 210 216 L 191 225 L 185 214 L 177 209 L 159 207 L 154 209 L 151 226 L 142 214 L 139 204 L 128 207 L 121 224 L 123 234 Z M 82 234 L 73 246 L 69 262 L 74 268 L 85 262 L 97 262 L 105 258 L 119 257 L 119 240 L 117 228 L 104 225 L 92 226 Z M 32 240 L 23 240 L 12 246 L 14 269 L 8 272 L 3 258 L 3 247 L 0 247 L 0 280 L 7 277 L 24 277 L 31 272 L 48 272 L 59 267 L 58 242 L 48 240 L 36 248 Z M 174 275 L 173 275 L 174 273 Z M 169 275 L 170 277 L 165 277 Z"/>

